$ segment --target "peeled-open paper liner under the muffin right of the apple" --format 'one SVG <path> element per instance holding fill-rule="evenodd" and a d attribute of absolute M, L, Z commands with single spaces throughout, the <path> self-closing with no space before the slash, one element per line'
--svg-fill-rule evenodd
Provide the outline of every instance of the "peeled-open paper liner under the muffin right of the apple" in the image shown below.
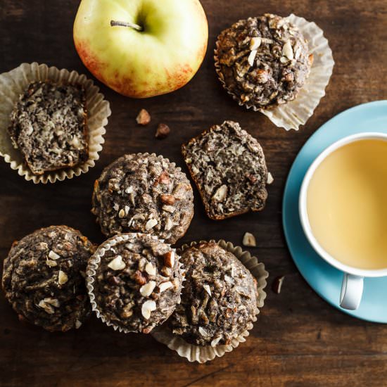
<path fill-rule="evenodd" d="M 310 75 L 307 77 L 303 88 L 298 92 L 296 99 L 289 101 L 284 105 L 274 106 L 268 109 L 257 108 L 249 103 L 241 102 L 238 96 L 227 89 L 227 85 L 220 76 L 221 68 L 217 57 L 219 41 L 216 42 L 215 48 L 215 70 L 224 89 L 227 90 L 227 93 L 230 94 L 240 106 L 244 106 L 248 109 L 251 108 L 254 111 L 260 111 L 260 113 L 266 115 L 274 125 L 277 125 L 277 127 L 284 127 L 286 130 L 298 130 L 300 125 L 305 125 L 305 122 L 312 117 L 319 101 L 325 95 L 325 88 L 329 84 L 334 68 L 334 58 L 328 40 L 324 37 L 324 32 L 316 25 L 316 23 L 308 22 L 304 18 L 293 15 L 293 13 L 291 13 L 286 20 L 293 25 L 296 25 L 300 32 L 302 32 L 305 39 L 307 39 L 309 52 L 313 54 Z"/>

